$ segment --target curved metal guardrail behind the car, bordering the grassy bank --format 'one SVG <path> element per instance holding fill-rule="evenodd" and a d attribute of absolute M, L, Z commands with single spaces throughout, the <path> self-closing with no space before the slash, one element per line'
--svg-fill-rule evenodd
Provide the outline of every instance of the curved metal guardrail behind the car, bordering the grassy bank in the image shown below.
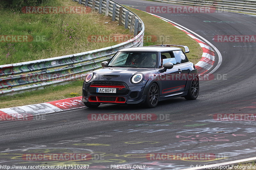
<path fill-rule="evenodd" d="M 101 67 L 118 50 L 143 46 L 144 24 L 132 11 L 112 0 L 74 0 L 105 13 L 134 33 L 134 38 L 123 43 L 83 53 L 64 55 L 29 62 L 0 65 L 0 95 L 20 92 L 46 85 L 59 84 L 78 78 L 85 72 Z M 120 12 L 121 11 L 121 12 Z M 24 74 L 25 73 L 25 74 Z M 82 73 L 82 74 L 81 74 Z"/>

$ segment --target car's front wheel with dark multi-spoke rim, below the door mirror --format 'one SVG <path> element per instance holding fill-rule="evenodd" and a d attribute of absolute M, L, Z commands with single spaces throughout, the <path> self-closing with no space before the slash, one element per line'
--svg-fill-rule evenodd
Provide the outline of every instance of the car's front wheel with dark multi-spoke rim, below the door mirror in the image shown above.
<path fill-rule="evenodd" d="M 148 88 L 145 104 L 147 107 L 153 108 L 153 107 L 156 107 L 158 100 L 159 100 L 159 88 L 155 83 L 153 83 Z"/>

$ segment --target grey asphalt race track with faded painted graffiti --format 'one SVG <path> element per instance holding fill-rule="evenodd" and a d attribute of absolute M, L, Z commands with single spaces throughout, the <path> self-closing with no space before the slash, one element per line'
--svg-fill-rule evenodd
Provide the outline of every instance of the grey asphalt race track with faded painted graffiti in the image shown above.
<path fill-rule="evenodd" d="M 170 6 L 139 0 L 117 2 L 143 11 L 146 6 Z M 256 42 L 216 42 L 213 37 L 256 35 L 256 16 L 233 12 L 156 15 L 187 27 L 220 50 L 222 63 L 213 73 L 214 79 L 200 81 L 197 100 L 166 100 L 152 109 L 101 104 L 97 109 L 80 108 L 46 115 L 43 120 L 0 122 L 1 165 L 90 165 L 89 169 L 96 170 L 130 164 L 144 165 L 147 170 L 175 170 L 255 157 L 255 121 L 219 121 L 213 116 L 256 114 Z M 99 113 L 156 114 L 160 120 L 88 120 L 89 114 Z M 53 161 L 25 157 L 40 153 L 91 153 L 92 159 Z M 149 153 L 211 156 L 210 159 L 154 160 Z"/>

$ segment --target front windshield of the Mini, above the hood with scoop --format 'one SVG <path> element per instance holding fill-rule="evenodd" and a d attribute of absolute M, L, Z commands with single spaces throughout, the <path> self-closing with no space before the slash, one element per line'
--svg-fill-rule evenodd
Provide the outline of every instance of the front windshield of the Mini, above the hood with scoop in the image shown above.
<path fill-rule="evenodd" d="M 157 52 L 118 52 L 107 67 L 156 68 Z"/>

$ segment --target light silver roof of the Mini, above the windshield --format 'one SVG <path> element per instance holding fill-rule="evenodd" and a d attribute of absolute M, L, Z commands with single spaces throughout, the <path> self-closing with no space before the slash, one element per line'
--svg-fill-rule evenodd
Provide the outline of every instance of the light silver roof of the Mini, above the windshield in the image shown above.
<path fill-rule="evenodd" d="M 166 52 L 166 51 L 177 51 L 181 50 L 176 47 L 164 47 L 164 46 L 145 46 L 145 47 L 132 47 L 124 48 L 119 51 L 151 51 L 151 52 Z"/>

